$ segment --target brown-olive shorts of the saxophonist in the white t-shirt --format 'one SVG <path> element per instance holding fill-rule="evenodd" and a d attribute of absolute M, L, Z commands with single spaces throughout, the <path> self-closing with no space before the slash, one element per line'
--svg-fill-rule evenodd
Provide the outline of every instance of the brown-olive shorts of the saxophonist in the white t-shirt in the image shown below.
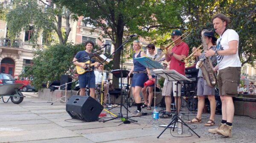
<path fill-rule="evenodd" d="M 226 67 L 219 70 L 218 88 L 219 95 L 237 95 L 237 87 L 240 82 L 241 67 Z"/>

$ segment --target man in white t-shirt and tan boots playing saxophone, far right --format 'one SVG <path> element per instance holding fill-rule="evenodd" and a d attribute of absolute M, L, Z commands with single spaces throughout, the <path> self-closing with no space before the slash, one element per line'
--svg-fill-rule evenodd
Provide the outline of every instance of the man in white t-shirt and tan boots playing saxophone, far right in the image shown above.
<path fill-rule="evenodd" d="M 224 14 L 212 17 L 215 32 L 220 36 L 217 40 L 217 50 L 208 50 L 205 56 L 217 56 L 218 64 L 213 70 L 218 72 L 219 95 L 222 103 L 222 121 L 218 128 L 209 129 L 210 133 L 218 133 L 232 137 L 232 122 L 234 103 L 232 97 L 237 95 L 240 81 L 241 62 L 238 55 L 239 35 L 233 29 L 227 29 L 230 19 Z"/>

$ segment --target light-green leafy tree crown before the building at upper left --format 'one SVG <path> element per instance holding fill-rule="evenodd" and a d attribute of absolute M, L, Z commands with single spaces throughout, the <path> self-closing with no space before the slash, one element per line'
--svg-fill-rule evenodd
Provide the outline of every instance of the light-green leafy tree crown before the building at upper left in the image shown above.
<path fill-rule="evenodd" d="M 28 31 L 32 25 L 33 36 L 30 42 L 36 43 L 42 31 L 48 35 L 55 31 L 59 43 L 65 44 L 71 31 L 70 15 L 67 8 L 59 5 L 54 7 L 53 3 L 47 4 L 42 0 L 14 0 L 6 14 L 6 21 L 12 37 L 19 36 L 21 31 Z M 61 28 L 63 18 L 66 20 L 65 31 Z"/>

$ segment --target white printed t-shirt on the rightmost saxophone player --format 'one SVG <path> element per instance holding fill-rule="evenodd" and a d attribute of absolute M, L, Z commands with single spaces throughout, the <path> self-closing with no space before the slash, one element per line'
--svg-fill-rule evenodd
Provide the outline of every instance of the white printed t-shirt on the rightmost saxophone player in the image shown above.
<path fill-rule="evenodd" d="M 227 29 L 221 37 L 217 40 L 217 50 L 226 50 L 229 48 L 228 42 L 236 40 L 237 48 L 239 45 L 239 35 L 234 31 L 233 29 Z M 221 42 L 220 45 L 218 44 L 219 41 Z M 218 62 L 218 69 L 222 70 L 226 67 L 241 67 L 241 62 L 238 56 L 238 50 L 236 51 L 236 54 L 232 55 L 218 55 L 217 56 L 217 62 Z"/>

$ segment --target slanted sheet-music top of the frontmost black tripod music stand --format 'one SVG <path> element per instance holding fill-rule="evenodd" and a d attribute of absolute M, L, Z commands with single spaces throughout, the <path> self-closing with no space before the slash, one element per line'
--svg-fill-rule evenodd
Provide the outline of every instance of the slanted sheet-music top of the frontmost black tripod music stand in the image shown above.
<path fill-rule="evenodd" d="M 168 81 L 191 81 L 190 79 L 186 78 L 186 76 L 178 73 L 176 70 L 156 69 L 153 71 Z"/>

